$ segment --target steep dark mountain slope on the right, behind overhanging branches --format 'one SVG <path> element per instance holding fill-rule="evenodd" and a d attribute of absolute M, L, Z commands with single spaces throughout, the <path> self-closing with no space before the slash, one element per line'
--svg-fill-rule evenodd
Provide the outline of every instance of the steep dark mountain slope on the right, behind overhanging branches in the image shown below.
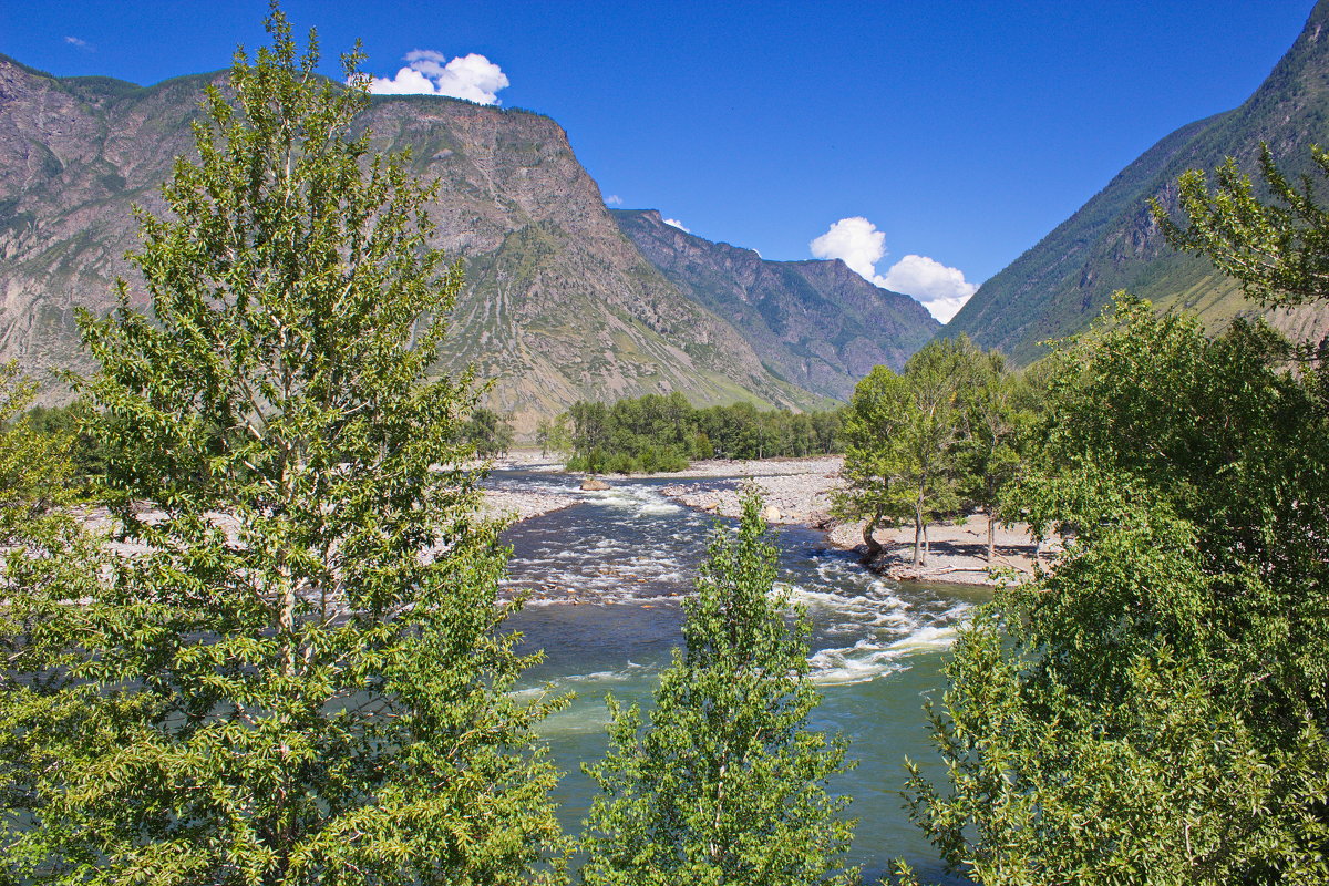
<path fill-rule="evenodd" d="M 1259 181 L 1260 142 L 1280 169 L 1310 171 L 1312 143 L 1329 143 L 1329 0 L 1269 77 L 1240 108 L 1188 124 L 1119 173 L 1051 234 L 979 287 L 944 335 L 969 333 L 1019 361 L 1043 353 L 1039 341 L 1084 329 L 1116 290 L 1160 308 L 1195 311 L 1216 328 L 1239 315 L 1265 313 L 1286 332 L 1329 331 L 1329 310 L 1264 312 L 1208 259 L 1167 246 L 1148 199 L 1176 210 L 1176 179 L 1188 169 L 1213 170 L 1225 157 Z"/>

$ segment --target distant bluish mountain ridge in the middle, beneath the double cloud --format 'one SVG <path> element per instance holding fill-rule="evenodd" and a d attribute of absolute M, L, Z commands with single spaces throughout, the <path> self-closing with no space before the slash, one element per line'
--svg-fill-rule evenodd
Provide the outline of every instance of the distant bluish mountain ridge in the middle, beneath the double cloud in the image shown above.
<path fill-rule="evenodd" d="M 848 400 L 872 367 L 904 367 L 941 328 L 908 295 L 881 290 L 840 259 L 767 262 L 667 224 L 655 210 L 614 210 L 637 248 L 694 302 L 726 317 L 775 375 Z"/>

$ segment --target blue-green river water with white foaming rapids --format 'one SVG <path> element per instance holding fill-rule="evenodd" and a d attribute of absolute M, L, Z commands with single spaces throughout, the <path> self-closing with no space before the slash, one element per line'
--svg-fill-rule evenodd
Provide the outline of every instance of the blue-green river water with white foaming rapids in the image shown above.
<path fill-rule="evenodd" d="M 552 685 L 575 693 L 541 727 L 567 773 L 557 798 L 571 833 L 595 792 L 579 764 L 606 748 L 605 695 L 649 701 L 670 651 L 682 643 L 680 595 L 691 587 L 714 521 L 664 498 L 659 487 L 668 482 L 619 481 L 505 535 L 513 547 L 508 588 L 530 598 L 509 626 L 524 634 L 524 651 L 545 651 L 544 663 L 525 676 L 526 691 Z M 574 478 L 525 470 L 494 472 L 490 485 L 575 489 Z M 813 727 L 844 733 L 859 761 L 832 784 L 853 797 L 847 814 L 859 818 L 851 863 L 880 875 L 892 858 L 904 857 L 945 879 L 902 808 L 904 761 L 909 756 L 938 772 L 922 704 L 928 696 L 940 700 L 940 668 L 956 624 L 987 591 L 882 579 L 808 529 L 780 527 L 777 547 L 779 580 L 812 623 L 809 662 L 823 696 Z"/>

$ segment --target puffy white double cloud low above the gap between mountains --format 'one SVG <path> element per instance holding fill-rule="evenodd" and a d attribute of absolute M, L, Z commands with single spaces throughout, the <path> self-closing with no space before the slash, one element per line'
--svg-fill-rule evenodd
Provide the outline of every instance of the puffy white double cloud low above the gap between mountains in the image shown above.
<path fill-rule="evenodd" d="M 965 280 L 964 271 L 926 255 L 906 255 L 885 276 L 877 274 L 877 262 L 886 255 L 886 235 L 861 215 L 840 219 L 808 247 L 819 259 L 840 259 L 869 283 L 913 298 L 942 323 L 978 290 Z"/>

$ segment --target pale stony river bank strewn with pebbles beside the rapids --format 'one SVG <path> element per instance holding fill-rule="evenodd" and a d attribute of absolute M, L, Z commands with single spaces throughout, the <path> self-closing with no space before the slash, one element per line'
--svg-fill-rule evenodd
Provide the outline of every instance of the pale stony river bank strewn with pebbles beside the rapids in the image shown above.
<path fill-rule="evenodd" d="M 754 461 L 699 461 L 687 470 L 668 474 L 649 474 L 649 478 L 667 478 L 679 482 L 661 487 L 661 493 L 687 507 L 736 517 L 739 491 L 751 480 L 767 502 L 767 522 L 773 525 L 808 526 L 824 531 L 827 541 L 843 550 L 863 547 L 863 527 L 859 523 L 840 523 L 831 517 L 831 497 L 841 485 L 840 470 L 844 458 L 821 456 L 813 458 L 766 458 Z M 494 462 L 496 469 L 550 470 L 562 469 L 557 456 L 538 452 L 514 452 Z M 639 477 L 645 478 L 645 477 Z M 627 478 L 607 477 L 606 481 L 626 482 Z M 704 482 L 686 482 L 704 481 Z M 502 489 L 486 490 L 486 509 L 494 514 L 508 514 L 528 519 L 548 514 L 585 499 L 587 493 Z M 945 580 L 962 584 L 995 584 L 991 567 L 1017 576 L 1031 575 L 1038 553 L 1029 527 L 1022 523 L 994 527 L 995 551 L 987 562 L 987 517 L 973 514 L 961 522 L 934 523 L 928 527 L 930 555 L 925 566 L 913 566 L 913 527 L 878 529 L 873 538 L 884 553 L 873 565 L 878 573 L 898 580 Z M 1043 549 L 1045 555 L 1055 551 L 1055 545 Z"/>

